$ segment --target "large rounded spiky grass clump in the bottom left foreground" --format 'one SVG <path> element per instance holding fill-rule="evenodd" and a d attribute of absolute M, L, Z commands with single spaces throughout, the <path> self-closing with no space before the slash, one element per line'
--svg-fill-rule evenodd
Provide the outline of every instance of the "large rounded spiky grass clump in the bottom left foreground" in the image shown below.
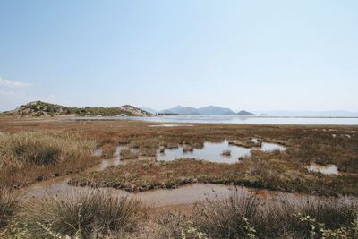
<path fill-rule="evenodd" d="M 11 234 L 26 238 L 77 236 L 102 238 L 132 232 L 141 218 L 141 202 L 81 189 L 27 201 L 13 217 Z"/>

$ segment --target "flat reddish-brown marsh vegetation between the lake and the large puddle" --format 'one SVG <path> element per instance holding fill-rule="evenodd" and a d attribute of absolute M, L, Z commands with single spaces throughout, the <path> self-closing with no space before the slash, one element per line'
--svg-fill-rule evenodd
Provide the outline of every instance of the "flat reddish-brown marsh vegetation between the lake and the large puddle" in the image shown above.
<path fill-rule="evenodd" d="M 278 160 L 277 162 L 282 165 L 294 165 L 294 169 L 290 169 L 289 173 L 285 174 L 290 175 L 290 178 L 301 174 L 302 169 L 299 169 L 298 166 L 310 162 L 336 164 L 340 170 L 358 173 L 357 126 L 193 124 L 194 126 L 190 128 L 166 128 L 149 127 L 151 124 L 153 123 L 133 121 L 84 123 L 59 121 L 56 118 L 44 122 L 39 119 L 22 118 L 18 120 L 11 117 L 0 117 L 0 131 L 2 132 L 38 131 L 40 129 L 78 132 L 81 134 L 81 138 L 98 141 L 98 145 L 129 143 L 129 147 L 138 149 L 140 156 L 150 157 L 155 155 L 159 147 L 177 148 L 179 144 L 187 144 L 190 145 L 190 148 L 198 149 L 205 141 L 245 141 L 257 138 L 260 141 L 280 142 L 286 145 L 285 153 L 260 155 L 256 158 L 260 159 L 259 164 L 262 165 L 267 164 L 265 161 L 269 160 Z M 333 138 L 332 132 L 329 131 L 333 128 L 337 135 L 336 138 Z M 351 138 L 346 137 L 345 134 L 349 134 Z M 256 158 L 253 162 L 256 161 Z M 257 174 L 260 174 L 260 168 L 254 164 L 256 162 L 247 163 L 246 166 L 251 167 L 248 169 L 249 173 L 256 171 Z M 273 173 L 266 175 L 269 174 Z M 307 180 L 311 180 L 315 175 L 309 174 L 307 177 Z M 12 180 L 9 179 L 9 181 Z"/>

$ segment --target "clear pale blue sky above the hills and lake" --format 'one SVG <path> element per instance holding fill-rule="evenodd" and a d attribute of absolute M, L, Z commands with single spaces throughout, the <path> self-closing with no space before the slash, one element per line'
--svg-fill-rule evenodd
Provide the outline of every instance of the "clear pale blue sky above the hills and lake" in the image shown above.
<path fill-rule="evenodd" d="M 358 111 L 358 1 L 0 0 L 0 111 Z"/>

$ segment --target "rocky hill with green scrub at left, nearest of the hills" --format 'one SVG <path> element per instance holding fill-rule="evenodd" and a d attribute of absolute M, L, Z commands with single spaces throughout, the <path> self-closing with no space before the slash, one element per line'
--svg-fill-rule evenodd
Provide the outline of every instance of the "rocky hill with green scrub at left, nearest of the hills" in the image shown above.
<path fill-rule="evenodd" d="M 30 102 L 2 115 L 46 116 L 46 115 L 102 115 L 102 116 L 149 116 L 149 112 L 137 107 L 64 107 L 42 101 Z"/>

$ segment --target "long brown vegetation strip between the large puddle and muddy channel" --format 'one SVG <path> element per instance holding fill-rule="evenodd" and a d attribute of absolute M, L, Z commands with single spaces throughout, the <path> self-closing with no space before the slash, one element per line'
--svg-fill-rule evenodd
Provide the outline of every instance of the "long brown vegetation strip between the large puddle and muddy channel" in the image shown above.
<path fill-rule="evenodd" d="M 266 153 L 277 155 L 278 152 Z M 71 184 L 115 187 L 130 192 L 176 188 L 183 184 L 238 184 L 286 192 L 320 195 L 358 194 L 358 175 L 311 174 L 290 162 L 267 160 L 265 153 L 244 158 L 243 163 L 217 164 L 195 159 L 170 162 L 132 161 L 102 172 L 77 175 Z M 268 156 L 266 156 L 268 158 Z"/>

